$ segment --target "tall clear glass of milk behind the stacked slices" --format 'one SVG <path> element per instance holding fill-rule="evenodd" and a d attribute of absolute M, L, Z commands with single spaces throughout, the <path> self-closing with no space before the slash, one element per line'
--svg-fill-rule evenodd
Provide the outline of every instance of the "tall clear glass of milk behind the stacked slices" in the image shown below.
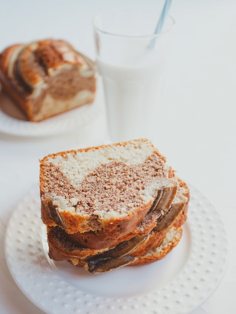
<path fill-rule="evenodd" d="M 174 20 L 154 34 L 159 13 L 120 9 L 93 20 L 96 63 L 102 77 L 110 140 L 155 140 Z"/>

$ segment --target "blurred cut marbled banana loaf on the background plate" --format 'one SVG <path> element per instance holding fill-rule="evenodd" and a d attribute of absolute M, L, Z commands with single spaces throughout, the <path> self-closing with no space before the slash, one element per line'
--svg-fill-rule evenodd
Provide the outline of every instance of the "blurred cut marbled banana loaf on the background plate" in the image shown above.
<path fill-rule="evenodd" d="M 94 63 L 66 41 L 47 39 L 0 54 L 0 81 L 30 121 L 41 121 L 93 101 Z"/>

